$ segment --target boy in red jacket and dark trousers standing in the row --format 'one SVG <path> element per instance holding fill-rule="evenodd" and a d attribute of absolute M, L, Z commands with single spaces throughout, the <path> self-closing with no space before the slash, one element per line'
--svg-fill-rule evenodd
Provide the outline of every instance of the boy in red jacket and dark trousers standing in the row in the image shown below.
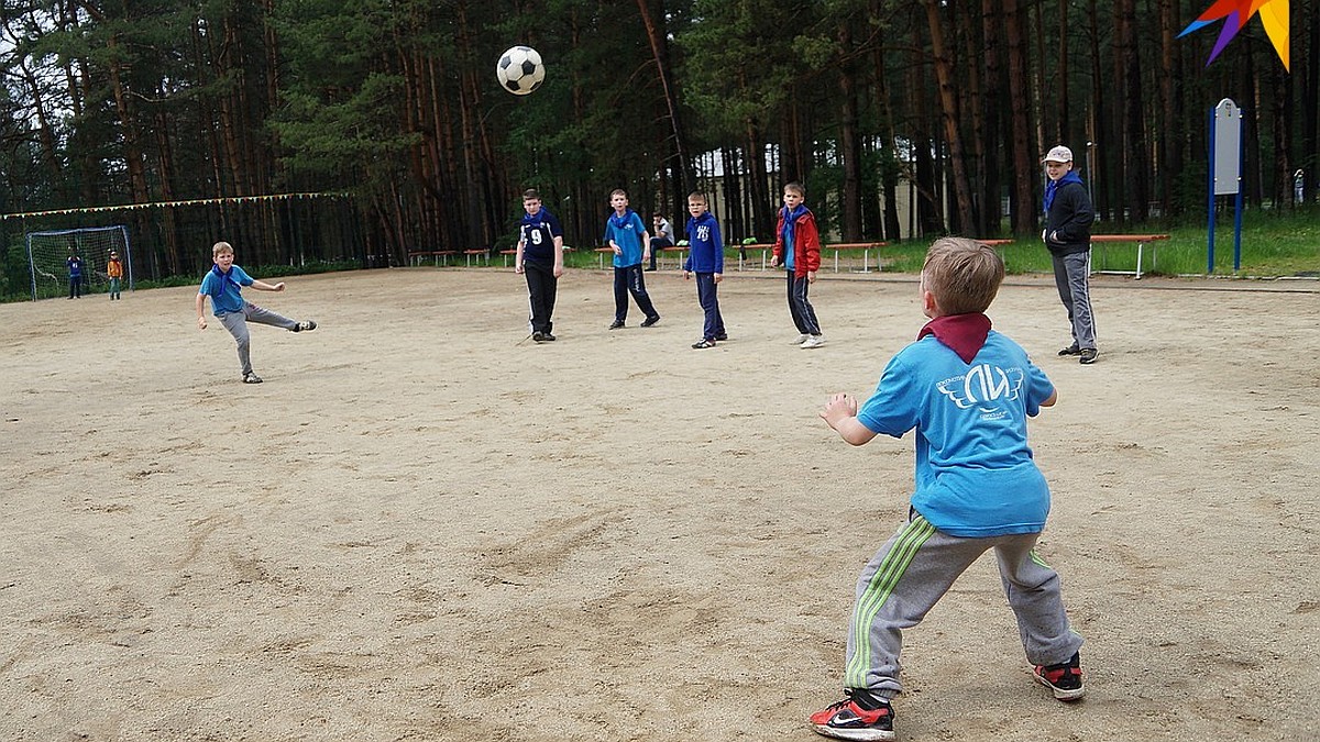
<path fill-rule="evenodd" d="M 784 186 L 784 207 L 779 210 L 775 253 L 770 264 L 783 264 L 788 273 L 788 312 L 800 333 L 793 345 L 809 350 L 825 345 L 825 335 L 816 320 L 816 309 L 807 298 L 807 288 L 816 283 L 816 272 L 821 267 L 821 238 L 816 231 L 816 217 L 803 203 L 805 199 L 803 184 Z"/>

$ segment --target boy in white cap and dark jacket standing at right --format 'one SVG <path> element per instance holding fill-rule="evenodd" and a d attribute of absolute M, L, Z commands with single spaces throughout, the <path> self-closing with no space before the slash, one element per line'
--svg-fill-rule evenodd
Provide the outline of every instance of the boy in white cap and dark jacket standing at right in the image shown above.
<path fill-rule="evenodd" d="M 1041 238 L 1055 264 L 1055 287 L 1068 310 L 1072 343 L 1059 355 L 1076 355 L 1080 363 L 1094 363 L 1096 316 L 1090 309 L 1090 224 L 1096 210 L 1081 177 L 1073 172 L 1072 149 L 1055 147 L 1045 154 L 1045 230 Z"/>

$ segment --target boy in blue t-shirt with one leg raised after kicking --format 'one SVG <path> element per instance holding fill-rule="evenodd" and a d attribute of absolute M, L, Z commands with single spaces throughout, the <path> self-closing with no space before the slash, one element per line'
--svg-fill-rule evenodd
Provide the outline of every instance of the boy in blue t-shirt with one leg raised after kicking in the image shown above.
<path fill-rule="evenodd" d="M 211 257 L 215 265 L 211 265 L 206 277 L 202 279 L 202 288 L 197 292 L 197 327 L 199 330 L 206 329 L 206 297 L 211 297 L 211 312 L 215 313 L 215 317 L 224 325 L 224 329 L 239 343 L 239 366 L 243 368 L 243 383 L 260 384 L 261 378 L 252 372 L 252 359 L 248 353 L 251 339 L 248 338 L 247 323 L 272 325 L 284 327 L 292 333 L 315 330 L 317 323 L 312 320 L 296 322 L 275 312 L 261 309 L 251 301 L 246 301 L 239 293 L 243 287 L 252 287 L 264 292 L 282 292 L 284 281 L 268 284 L 248 276 L 243 268 L 234 264 L 234 247 L 230 243 L 215 243 L 215 247 L 211 248 Z"/>

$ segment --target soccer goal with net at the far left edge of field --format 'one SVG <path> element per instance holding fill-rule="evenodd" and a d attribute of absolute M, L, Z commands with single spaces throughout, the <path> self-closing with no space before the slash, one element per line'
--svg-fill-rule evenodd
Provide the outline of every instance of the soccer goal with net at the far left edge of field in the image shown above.
<path fill-rule="evenodd" d="M 28 268 L 32 271 L 32 301 L 69 293 L 69 257 L 82 257 L 82 289 L 104 292 L 110 287 L 106 264 L 117 252 L 124 267 L 120 288 L 133 288 L 133 253 L 128 227 L 82 227 L 49 232 L 28 232 Z"/>

